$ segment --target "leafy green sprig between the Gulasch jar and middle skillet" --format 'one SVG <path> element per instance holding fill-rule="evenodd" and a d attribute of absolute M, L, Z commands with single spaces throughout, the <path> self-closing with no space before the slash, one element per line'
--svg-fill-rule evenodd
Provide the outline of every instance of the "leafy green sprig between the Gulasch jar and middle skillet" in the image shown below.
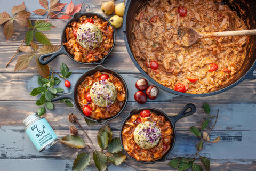
<path fill-rule="evenodd" d="M 65 63 L 62 63 L 61 66 L 62 75 L 57 75 L 61 78 L 68 78 L 72 74 L 72 72 L 69 72 L 68 67 Z M 65 68 L 65 70 L 63 70 L 63 68 Z M 53 103 L 51 102 L 52 98 L 56 97 L 57 93 L 62 93 L 64 91 L 64 89 L 61 87 L 55 88 L 55 86 L 60 84 L 61 80 L 58 77 L 54 77 L 54 73 L 56 72 L 52 70 L 51 76 L 48 76 L 47 78 L 38 77 L 37 83 L 40 87 L 34 88 L 30 93 L 30 95 L 32 96 L 40 94 L 39 100 L 36 101 L 36 105 L 42 105 L 38 109 L 39 115 L 44 115 L 46 110 L 45 107 L 49 110 L 52 110 L 54 107 Z M 67 104 L 68 106 L 73 107 L 73 104 L 68 99 L 63 99 L 61 100 L 61 102 L 65 102 L 65 104 Z"/>

